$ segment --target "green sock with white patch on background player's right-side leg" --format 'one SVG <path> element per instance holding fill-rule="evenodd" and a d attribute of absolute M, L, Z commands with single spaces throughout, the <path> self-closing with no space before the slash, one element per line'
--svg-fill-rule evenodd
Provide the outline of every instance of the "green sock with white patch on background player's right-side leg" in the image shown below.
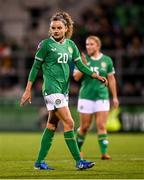
<path fill-rule="evenodd" d="M 101 154 L 107 153 L 107 146 L 108 146 L 108 135 L 107 134 L 99 134 L 98 135 L 98 142 L 101 150 Z"/>

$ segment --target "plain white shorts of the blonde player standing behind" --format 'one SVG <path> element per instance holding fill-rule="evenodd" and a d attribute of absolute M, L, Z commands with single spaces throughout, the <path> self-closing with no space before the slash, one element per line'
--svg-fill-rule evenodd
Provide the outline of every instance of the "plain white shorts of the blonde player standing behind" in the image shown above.
<path fill-rule="evenodd" d="M 79 99 L 77 110 L 80 113 L 95 113 L 100 111 L 109 111 L 110 110 L 110 102 L 109 100 L 87 100 L 87 99 Z"/>

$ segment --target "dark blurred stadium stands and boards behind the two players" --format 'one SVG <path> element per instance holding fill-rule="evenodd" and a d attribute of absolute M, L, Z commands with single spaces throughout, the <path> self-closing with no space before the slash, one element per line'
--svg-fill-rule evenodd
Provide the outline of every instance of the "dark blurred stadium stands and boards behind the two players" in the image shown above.
<path fill-rule="evenodd" d="M 61 10 L 74 19 L 72 39 L 81 51 L 85 51 L 85 38 L 97 35 L 102 52 L 114 61 L 120 108 L 110 114 L 113 121 L 108 130 L 144 132 L 144 6 L 140 0 L 0 0 L 0 130 L 43 128 L 47 117 L 41 73 L 32 105 L 20 108 L 19 101 L 37 45 L 47 37 L 49 18 Z M 79 86 L 71 77 L 70 107 L 76 127 Z"/>

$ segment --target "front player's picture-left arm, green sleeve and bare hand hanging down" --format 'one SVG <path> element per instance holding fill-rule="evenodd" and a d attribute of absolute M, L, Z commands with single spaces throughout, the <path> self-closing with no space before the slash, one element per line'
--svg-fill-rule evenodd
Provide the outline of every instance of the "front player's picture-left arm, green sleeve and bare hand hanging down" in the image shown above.
<path fill-rule="evenodd" d="M 31 90 L 33 82 L 35 81 L 39 70 L 41 69 L 46 54 L 45 43 L 41 42 L 38 45 L 38 50 L 35 55 L 35 60 L 29 73 L 28 82 L 25 91 L 22 95 L 20 106 L 23 106 L 26 102 L 31 104 Z"/>

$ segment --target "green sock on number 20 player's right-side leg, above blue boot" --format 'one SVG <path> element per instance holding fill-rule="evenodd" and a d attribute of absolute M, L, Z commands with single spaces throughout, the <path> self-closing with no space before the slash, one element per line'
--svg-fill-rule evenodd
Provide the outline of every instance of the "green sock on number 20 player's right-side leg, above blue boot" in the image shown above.
<path fill-rule="evenodd" d="M 81 160 L 79 148 L 76 143 L 76 139 L 75 139 L 75 135 L 74 135 L 74 131 L 64 132 L 64 138 L 65 138 L 67 146 L 68 146 L 73 158 L 76 160 L 76 162 Z"/>

